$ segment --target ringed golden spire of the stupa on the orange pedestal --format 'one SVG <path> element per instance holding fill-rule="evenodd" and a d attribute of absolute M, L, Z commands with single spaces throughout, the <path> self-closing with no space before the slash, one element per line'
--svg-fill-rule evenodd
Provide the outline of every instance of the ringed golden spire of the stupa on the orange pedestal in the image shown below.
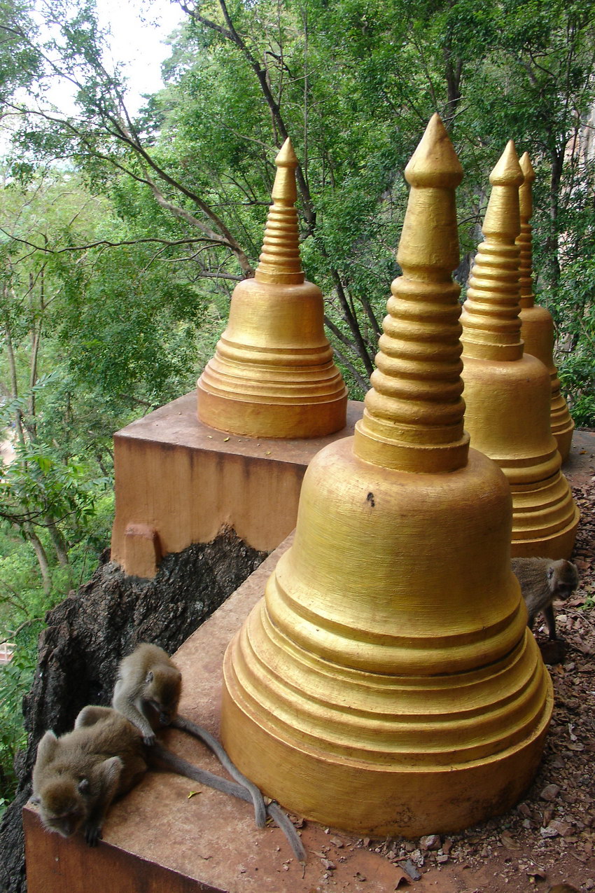
<path fill-rule="evenodd" d="M 277 174 L 272 189 L 273 204 L 264 231 L 260 263 L 255 279 L 291 285 L 305 280 L 300 261 L 300 231 L 294 204 L 297 198 L 295 169 L 298 160 L 288 137 L 277 158 Z"/>

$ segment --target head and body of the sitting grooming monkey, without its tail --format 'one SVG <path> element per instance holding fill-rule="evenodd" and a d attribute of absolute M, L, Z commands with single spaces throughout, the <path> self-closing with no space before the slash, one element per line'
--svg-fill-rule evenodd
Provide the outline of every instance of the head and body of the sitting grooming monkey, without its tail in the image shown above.
<path fill-rule="evenodd" d="M 147 745 L 155 743 L 155 729 L 169 725 L 178 713 L 182 674 L 169 655 L 143 642 L 120 663 L 112 707 L 143 733 Z"/>

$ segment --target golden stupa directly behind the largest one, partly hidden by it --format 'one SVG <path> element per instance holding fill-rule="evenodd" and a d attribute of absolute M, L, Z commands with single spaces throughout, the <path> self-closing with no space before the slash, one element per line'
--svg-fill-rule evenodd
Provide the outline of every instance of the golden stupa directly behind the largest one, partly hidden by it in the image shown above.
<path fill-rule="evenodd" d="M 483 238 L 463 305 L 465 426 L 500 465 L 512 491 L 513 557 L 569 558 L 579 513 L 550 430 L 550 373 L 524 353 L 519 319 L 524 181 L 512 140 L 490 176 Z"/>

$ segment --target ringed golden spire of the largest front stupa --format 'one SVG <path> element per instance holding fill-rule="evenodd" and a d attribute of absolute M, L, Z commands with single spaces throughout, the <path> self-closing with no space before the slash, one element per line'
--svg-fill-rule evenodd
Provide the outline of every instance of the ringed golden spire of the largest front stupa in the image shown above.
<path fill-rule="evenodd" d="M 402 471 L 450 471 L 467 463 L 461 397 L 459 263 L 455 187 L 463 170 L 434 114 L 405 176 L 411 184 L 384 334 L 364 417 L 360 458 Z"/>

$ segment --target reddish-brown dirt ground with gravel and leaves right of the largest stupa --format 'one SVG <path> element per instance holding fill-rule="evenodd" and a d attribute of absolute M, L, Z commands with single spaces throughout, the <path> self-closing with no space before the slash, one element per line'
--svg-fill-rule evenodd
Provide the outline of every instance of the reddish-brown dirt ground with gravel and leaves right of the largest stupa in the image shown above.
<path fill-rule="evenodd" d="M 563 881 L 595 891 L 595 434 L 576 432 L 574 452 L 565 472 L 581 510 L 573 556 L 581 583 L 573 597 L 557 606 L 562 654 L 552 653 L 545 625 L 535 624 L 555 706 L 531 789 L 510 813 L 448 837 L 354 843 L 330 830 L 328 847 L 317 854 L 331 866 L 329 880 L 336 861 L 351 860 L 353 851 L 362 848 L 401 869 L 393 875 L 401 878 L 396 886 L 393 880 L 386 886 L 386 875 L 377 875 L 375 882 L 370 859 L 367 880 L 375 893 L 548 893 Z M 560 657 L 562 662 L 556 663 Z M 306 835 L 304 830 L 304 840 Z M 312 893 L 324 889 L 319 886 Z"/>

